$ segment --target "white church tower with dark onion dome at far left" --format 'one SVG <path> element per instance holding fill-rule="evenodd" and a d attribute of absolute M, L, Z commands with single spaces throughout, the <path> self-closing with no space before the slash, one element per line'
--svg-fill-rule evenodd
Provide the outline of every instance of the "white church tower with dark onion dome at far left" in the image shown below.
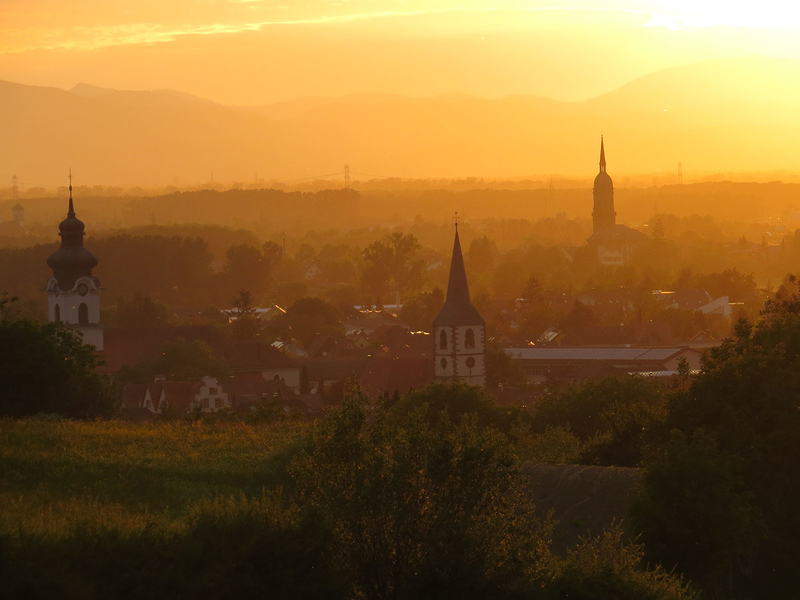
<path fill-rule="evenodd" d="M 84 224 L 75 216 L 72 170 L 69 173 L 69 210 L 58 226 L 61 247 L 47 259 L 53 276 L 47 282 L 50 322 L 61 321 L 83 335 L 83 343 L 103 349 L 100 323 L 100 280 L 92 275 L 97 257 L 83 247 Z"/>

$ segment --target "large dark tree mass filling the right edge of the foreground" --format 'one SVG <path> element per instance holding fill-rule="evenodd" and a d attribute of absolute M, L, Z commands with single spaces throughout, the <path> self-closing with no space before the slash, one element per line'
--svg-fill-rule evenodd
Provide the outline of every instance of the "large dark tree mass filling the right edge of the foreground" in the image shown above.
<path fill-rule="evenodd" d="M 649 556 L 697 573 L 699 541 L 688 532 L 714 524 L 703 533 L 706 572 L 696 576 L 720 593 L 771 598 L 800 586 L 800 303 L 789 283 L 794 291 L 768 303 L 755 326 L 740 321 L 708 351 L 671 403 L 665 430 L 679 434 L 645 475 Z"/>

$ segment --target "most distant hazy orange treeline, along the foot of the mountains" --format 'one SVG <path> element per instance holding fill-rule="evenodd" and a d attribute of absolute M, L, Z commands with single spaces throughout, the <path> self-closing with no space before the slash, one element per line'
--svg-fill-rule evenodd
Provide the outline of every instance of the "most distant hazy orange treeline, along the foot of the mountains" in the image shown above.
<path fill-rule="evenodd" d="M 612 173 L 613 177 L 613 173 Z M 221 187 L 221 186 L 219 186 Z M 591 188 L 573 183 L 555 188 L 542 182 L 528 182 L 523 189 L 505 183 L 472 180 L 456 189 L 446 184 L 417 188 L 414 182 L 388 182 L 385 187 L 365 185 L 358 190 L 326 189 L 285 191 L 282 189 L 203 189 L 147 196 L 143 190 L 134 197 L 120 197 L 112 190 L 93 190 L 81 194 L 76 202 L 86 222 L 132 227 L 191 221 L 254 228 L 259 235 L 271 230 L 288 230 L 298 223 L 310 229 L 343 227 L 352 223 L 381 223 L 387 217 L 410 222 L 416 216 L 429 220 L 448 220 L 459 211 L 468 219 L 539 220 L 563 213 L 569 218 L 591 217 Z M 615 194 L 618 219 L 628 224 L 647 222 L 654 213 L 679 217 L 713 215 L 721 220 L 754 223 L 781 219 L 784 225 L 800 225 L 797 203 L 798 184 L 771 183 L 696 183 L 647 188 L 627 187 L 617 179 Z M 417 188 L 417 189 L 415 189 Z M 64 210 L 66 189 L 59 198 L 25 198 L 29 224 L 56 223 Z M 16 201 L 0 201 L 0 210 Z"/>

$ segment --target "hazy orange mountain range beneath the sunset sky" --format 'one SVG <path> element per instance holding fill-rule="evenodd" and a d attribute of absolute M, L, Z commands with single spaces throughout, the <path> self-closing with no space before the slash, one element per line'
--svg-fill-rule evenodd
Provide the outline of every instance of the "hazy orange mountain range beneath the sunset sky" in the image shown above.
<path fill-rule="evenodd" d="M 477 76 L 477 75 L 476 75 Z M 224 85 L 221 82 L 220 85 Z M 0 186 L 293 180 L 338 173 L 591 177 L 793 170 L 800 61 L 725 59 L 658 71 L 586 102 L 357 94 L 223 106 L 170 90 L 0 82 Z M 362 175 L 358 175 L 362 174 Z"/>

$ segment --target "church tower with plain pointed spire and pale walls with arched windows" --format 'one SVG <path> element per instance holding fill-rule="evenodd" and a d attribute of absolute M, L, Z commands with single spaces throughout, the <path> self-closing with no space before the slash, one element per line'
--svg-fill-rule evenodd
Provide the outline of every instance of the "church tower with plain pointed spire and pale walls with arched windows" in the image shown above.
<path fill-rule="evenodd" d="M 447 298 L 433 320 L 433 340 L 437 381 L 462 381 L 480 386 L 486 384 L 486 322 L 469 297 L 467 272 L 458 239 L 458 223 Z"/>

